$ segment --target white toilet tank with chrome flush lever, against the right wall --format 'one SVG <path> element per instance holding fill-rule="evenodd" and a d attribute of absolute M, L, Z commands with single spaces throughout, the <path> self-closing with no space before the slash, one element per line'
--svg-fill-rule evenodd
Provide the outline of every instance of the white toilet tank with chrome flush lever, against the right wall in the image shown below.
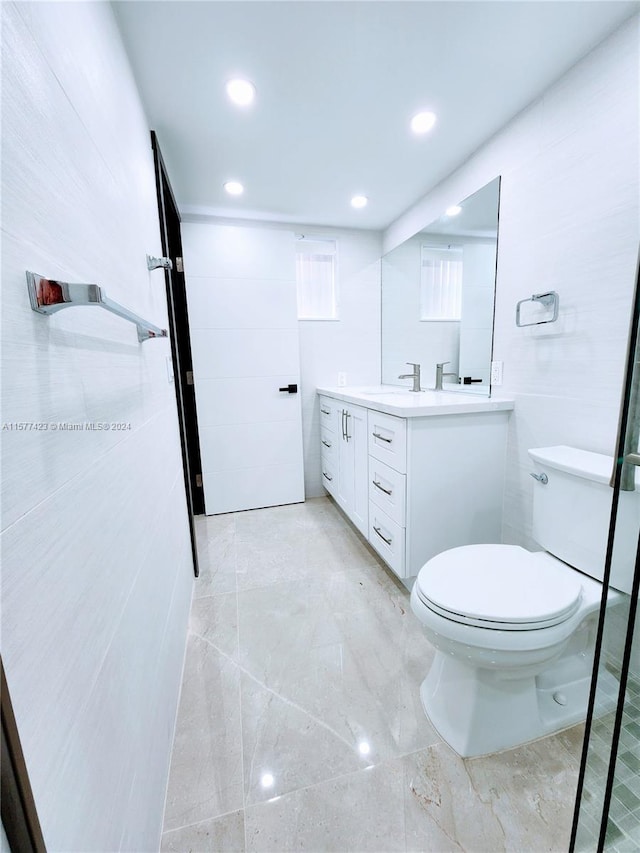
<path fill-rule="evenodd" d="M 545 551 L 601 581 L 609 536 L 613 457 L 575 447 L 529 450 L 536 474 L 533 538 Z M 640 478 L 636 491 L 620 492 L 610 584 L 630 593 L 640 529 Z"/>

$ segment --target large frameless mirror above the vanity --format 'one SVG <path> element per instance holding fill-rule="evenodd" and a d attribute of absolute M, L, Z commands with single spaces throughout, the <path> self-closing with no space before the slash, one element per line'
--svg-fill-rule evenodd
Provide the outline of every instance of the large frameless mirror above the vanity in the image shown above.
<path fill-rule="evenodd" d="M 489 394 L 500 178 L 382 258 L 382 382 Z"/>

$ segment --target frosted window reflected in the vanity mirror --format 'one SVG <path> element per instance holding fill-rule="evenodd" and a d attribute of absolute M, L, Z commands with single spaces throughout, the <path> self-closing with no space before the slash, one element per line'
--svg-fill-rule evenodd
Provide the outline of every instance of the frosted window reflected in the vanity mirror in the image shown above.
<path fill-rule="evenodd" d="M 459 320 L 462 316 L 462 246 L 422 246 L 420 319 Z"/>

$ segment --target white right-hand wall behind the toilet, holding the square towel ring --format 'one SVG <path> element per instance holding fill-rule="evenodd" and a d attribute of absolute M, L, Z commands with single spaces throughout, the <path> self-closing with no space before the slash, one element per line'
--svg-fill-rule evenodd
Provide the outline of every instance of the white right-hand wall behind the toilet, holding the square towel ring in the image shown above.
<path fill-rule="evenodd" d="M 494 358 L 511 417 L 503 538 L 531 545 L 527 448 L 615 446 L 638 251 L 640 17 L 635 16 L 393 223 L 385 251 L 502 175 Z M 560 294 L 553 325 L 519 299 Z"/>

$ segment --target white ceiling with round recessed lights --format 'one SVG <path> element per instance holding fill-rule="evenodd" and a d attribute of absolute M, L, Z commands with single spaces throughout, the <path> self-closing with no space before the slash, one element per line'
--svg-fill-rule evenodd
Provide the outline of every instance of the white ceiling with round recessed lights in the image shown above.
<path fill-rule="evenodd" d="M 640 4 L 112 5 L 183 214 L 382 229 Z M 227 98 L 233 76 L 255 84 L 251 107 Z M 418 137 L 421 109 L 438 120 Z"/>

